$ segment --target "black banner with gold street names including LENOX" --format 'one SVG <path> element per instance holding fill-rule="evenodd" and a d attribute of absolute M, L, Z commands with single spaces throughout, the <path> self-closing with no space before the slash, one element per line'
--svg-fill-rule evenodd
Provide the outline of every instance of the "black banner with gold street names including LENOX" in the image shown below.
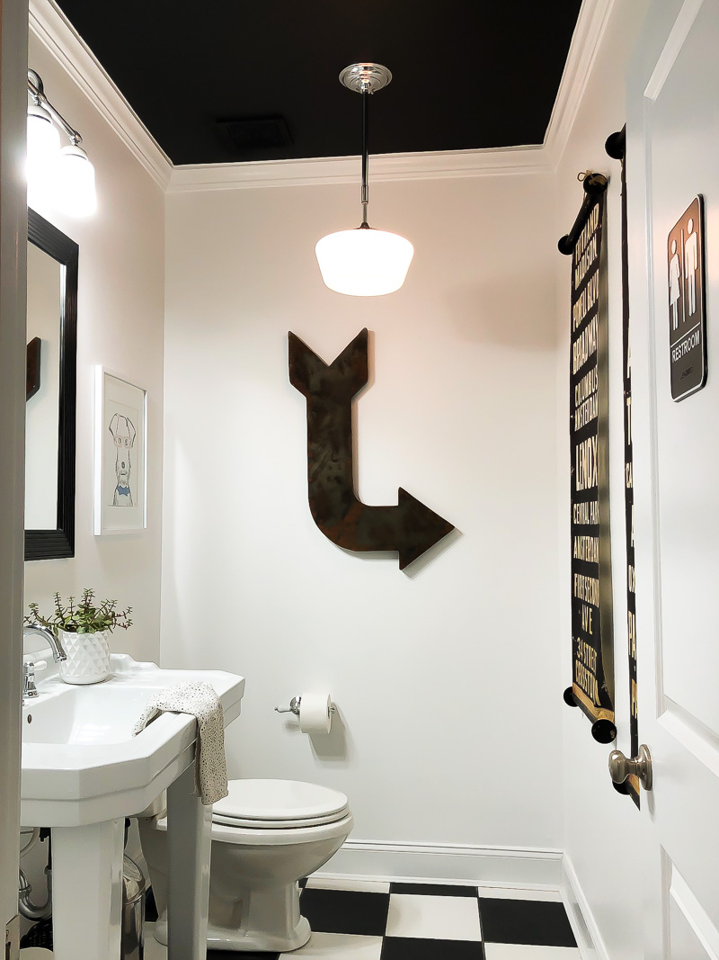
<path fill-rule="evenodd" d="M 571 254 L 569 438 L 571 452 L 570 695 L 601 743 L 615 739 L 612 565 L 609 524 L 609 336 L 603 243 L 607 179 L 587 174 L 585 200 L 559 249 Z"/>

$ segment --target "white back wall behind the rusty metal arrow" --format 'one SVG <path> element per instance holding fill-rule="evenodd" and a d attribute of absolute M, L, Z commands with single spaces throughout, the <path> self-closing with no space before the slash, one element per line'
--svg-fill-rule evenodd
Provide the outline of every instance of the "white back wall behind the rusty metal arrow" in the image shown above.
<path fill-rule="evenodd" d="M 359 182 L 167 198 L 162 662 L 244 674 L 231 775 L 344 790 L 356 838 L 559 845 L 551 186 L 375 183 L 372 223 L 416 248 L 377 300 L 313 253 Z M 359 495 L 402 485 L 459 531 L 406 573 L 307 502 L 287 333 L 331 361 L 365 325 Z M 340 715 L 315 743 L 273 712 L 313 688 Z"/>

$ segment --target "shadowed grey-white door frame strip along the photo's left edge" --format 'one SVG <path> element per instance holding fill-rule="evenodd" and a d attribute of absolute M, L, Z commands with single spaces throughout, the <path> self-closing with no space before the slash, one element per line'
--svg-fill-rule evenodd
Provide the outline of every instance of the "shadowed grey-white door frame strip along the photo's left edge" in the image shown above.
<path fill-rule="evenodd" d="M 20 815 L 27 0 L 0 2 L 0 955 L 17 914 Z"/>

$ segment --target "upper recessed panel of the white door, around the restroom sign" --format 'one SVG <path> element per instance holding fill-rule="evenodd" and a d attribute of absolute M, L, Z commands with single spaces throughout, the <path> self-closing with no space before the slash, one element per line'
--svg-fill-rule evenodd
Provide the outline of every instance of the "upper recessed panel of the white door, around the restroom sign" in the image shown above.
<path fill-rule="evenodd" d="M 719 344 L 719 17 L 705 2 L 652 101 L 655 369 L 663 693 L 719 735 L 719 384 L 681 402 L 669 385 L 666 239 L 697 194 L 706 195 L 707 344 Z M 712 357 L 711 359 L 715 359 Z M 712 640 L 714 642 L 712 642 Z"/>

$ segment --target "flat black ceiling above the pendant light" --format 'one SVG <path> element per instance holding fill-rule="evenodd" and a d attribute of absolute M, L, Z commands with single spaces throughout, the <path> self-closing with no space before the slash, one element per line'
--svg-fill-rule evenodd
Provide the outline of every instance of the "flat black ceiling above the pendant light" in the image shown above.
<path fill-rule="evenodd" d="M 373 154 L 542 143 L 581 5 L 58 2 L 175 164 L 359 154 L 361 101 L 337 75 L 360 60 L 393 74 L 372 99 Z M 221 123 L 277 118 L 289 141 L 280 125 L 265 148 Z"/>

